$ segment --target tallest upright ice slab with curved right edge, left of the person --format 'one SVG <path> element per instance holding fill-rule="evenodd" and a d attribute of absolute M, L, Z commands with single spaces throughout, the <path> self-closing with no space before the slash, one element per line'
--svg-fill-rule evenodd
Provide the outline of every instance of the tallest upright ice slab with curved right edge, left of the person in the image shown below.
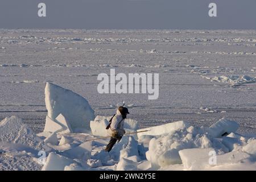
<path fill-rule="evenodd" d="M 94 111 L 85 98 L 50 82 L 46 83 L 45 96 L 47 115 L 52 121 L 56 121 L 59 114 L 62 114 L 71 130 L 90 130 Z"/>

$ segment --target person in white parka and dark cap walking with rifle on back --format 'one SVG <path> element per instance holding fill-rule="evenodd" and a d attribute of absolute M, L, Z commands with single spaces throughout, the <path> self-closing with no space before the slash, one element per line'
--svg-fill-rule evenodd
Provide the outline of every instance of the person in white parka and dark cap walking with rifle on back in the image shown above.
<path fill-rule="evenodd" d="M 126 115 L 130 114 L 126 107 L 120 106 L 117 109 L 117 114 L 115 114 L 111 119 L 109 125 L 106 127 L 111 138 L 109 144 L 106 146 L 105 151 L 112 150 L 114 144 L 121 140 L 125 130 L 123 129 L 123 123 L 125 122 Z"/>

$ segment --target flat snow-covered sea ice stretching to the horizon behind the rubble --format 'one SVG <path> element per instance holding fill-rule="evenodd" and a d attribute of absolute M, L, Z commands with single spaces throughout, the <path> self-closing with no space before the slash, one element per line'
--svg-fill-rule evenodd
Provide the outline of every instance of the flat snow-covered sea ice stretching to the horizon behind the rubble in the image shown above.
<path fill-rule="evenodd" d="M 158 100 L 148 100 L 147 94 L 99 94 L 97 75 L 109 75 L 110 68 L 116 73 L 159 73 Z M 0 121 L 16 115 L 34 133 L 44 130 L 44 88 L 46 82 L 53 82 L 86 98 L 95 115 L 112 116 L 115 105 L 125 101 L 129 118 L 140 128 L 181 120 L 209 127 L 225 117 L 239 124 L 237 133 L 253 135 L 256 31 L 0 30 L 0 82 Z M 126 145 L 136 143 L 124 140 Z M 181 153 L 189 168 L 186 151 Z M 106 163 L 111 166 L 111 162 Z M 131 162 L 125 158 L 112 168 L 127 169 L 123 168 L 127 163 Z M 101 166 L 96 159 L 91 164 Z M 139 165 L 147 168 L 146 162 Z M 41 168 L 26 156 L 3 156 L 0 150 L 0 169 Z"/>

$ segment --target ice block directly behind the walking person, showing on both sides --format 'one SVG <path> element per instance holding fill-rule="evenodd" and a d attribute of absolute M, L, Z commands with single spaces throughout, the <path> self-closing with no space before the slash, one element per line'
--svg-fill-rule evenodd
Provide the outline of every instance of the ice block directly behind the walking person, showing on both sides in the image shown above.
<path fill-rule="evenodd" d="M 106 130 L 106 126 L 109 125 L 109 120 L 111 118 L 112 117 L 97 115 L 94 121 L 90 121 L 90 129 L 92 130 L 92 134 L 101 137 L 108 136 L 109 134 Z M 126 118 L 123 127 L 126 130 L 126 133 L 134 132 L 139 128 L 138 121 Z"/>

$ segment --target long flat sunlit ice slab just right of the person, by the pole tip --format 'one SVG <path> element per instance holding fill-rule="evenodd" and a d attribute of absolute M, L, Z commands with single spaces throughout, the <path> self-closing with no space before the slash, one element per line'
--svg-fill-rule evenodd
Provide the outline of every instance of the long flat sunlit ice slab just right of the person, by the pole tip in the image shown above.
<path fill-rule="evenodd" d="M 145 131 L 145 130 L 150 130 L 150 131 L 138 133 L 137 135 L 138 135 L 138 138 L 140 138 L 142 135 L 163 135 L 178 129 L 183 129 L 184 127 L 188 127 L 188 126 L 189 125 L 187 122 L 177 121 L 173 123 L 167 123 L 164 125 L 148 127 L 146 129 L 139 129 L 137 131 Z"/>

